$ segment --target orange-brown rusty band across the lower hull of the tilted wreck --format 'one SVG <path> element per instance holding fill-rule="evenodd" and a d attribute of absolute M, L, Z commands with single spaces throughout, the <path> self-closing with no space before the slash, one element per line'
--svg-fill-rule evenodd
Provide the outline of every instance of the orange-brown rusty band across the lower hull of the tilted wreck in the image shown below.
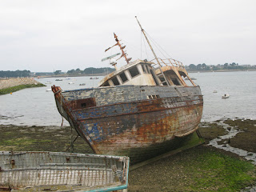
<path fill-rule="evenodd" d="M 198 114 L 195 113 L 195 110 L 198 111 Z M 180 122 L 180 116 L 186 116 L 187 114 L 193 114 L 194 116 L 199 116 L 199 118 L 183 118 L 183 121 Z M 156 120 L 155 116 L 161 116 Z M 200 122 L 200 117 L 202 115 L 202 106 L 190 106 L 186 110 L 178 109 L 174 111 L 174 114 L 163 115 L 162 113 L 152 114 L 152 122 L 145 123 L 144 125 L 138 126 L 135 125 L 134 129 L 126 130 L 122 134 L 109 136 L 106 141 L 98 142 L 97 146 L 113 146 L 122 145 L 124 146 L 127 143 L 132 143 L 135 145 L 163 142 L 165 140 L 170 140 L 174 138 L 175 134 L 182 134 L 183 130 L 190 129 L 190 127 L 198 126 Z M 143 118 L 142 115 L 139 115 L 137 118 Z M 130 125 L 131 126 L 131 125 Z M 118 149 L 117 149 L 118 150 Z"/>

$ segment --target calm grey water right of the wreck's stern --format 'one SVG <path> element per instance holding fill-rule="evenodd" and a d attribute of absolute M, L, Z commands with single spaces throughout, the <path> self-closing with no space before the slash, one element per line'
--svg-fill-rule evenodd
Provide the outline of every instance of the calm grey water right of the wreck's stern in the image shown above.
<path fill-rule="evenodd" d="M 202 90 L 202 120 L 256 118 L 256 71 L 190 73 Z M 217 90 L 217 93 L 214 93 Z M 222 95 L 230 94 L 230 98 Z"/>

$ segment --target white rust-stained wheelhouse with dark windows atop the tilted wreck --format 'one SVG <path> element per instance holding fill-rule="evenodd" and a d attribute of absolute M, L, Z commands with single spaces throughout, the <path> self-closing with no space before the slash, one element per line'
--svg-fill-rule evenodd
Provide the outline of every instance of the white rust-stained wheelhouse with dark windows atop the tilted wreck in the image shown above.
<path fill-rule="evenodd" d="M 187 86 L 184 78 L 189 76 L 184 66 L 166 65 L 162 66 L 162 70 L 154 66 L 154 62 L 137 59 L 107 75 L 99 82 L 99 86 Z M 191 79 L 190 81 L 196 86 Z"/>

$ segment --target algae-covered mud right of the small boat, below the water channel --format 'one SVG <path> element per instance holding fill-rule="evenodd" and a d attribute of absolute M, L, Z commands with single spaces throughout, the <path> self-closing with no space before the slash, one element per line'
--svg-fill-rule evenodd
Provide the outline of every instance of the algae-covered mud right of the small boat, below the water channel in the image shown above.
<path fill-rule="evenodd" d="M 253 164 L 198 146 L 131 171 L 129 191 L 240 191 L 255 182 Z"/>

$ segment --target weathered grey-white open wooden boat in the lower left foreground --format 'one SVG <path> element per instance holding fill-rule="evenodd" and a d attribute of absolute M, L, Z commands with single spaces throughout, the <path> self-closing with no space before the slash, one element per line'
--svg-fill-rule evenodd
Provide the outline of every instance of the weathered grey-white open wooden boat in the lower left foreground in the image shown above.
<path fill-rule="evenodd" d="M 0 190 L 125 190 L 129 158 L 97 154 L 0 151 Z"/>

